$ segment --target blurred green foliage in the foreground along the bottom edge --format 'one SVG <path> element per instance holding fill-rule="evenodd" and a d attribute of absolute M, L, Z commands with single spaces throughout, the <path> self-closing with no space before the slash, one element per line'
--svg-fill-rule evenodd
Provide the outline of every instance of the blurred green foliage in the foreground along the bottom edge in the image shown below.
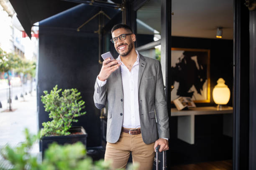
<path fill-rule="evenodd" d="M 44 160 L 39 163 L 36 156 L 29 152 L 31 147 L 39 139 L 38 135 L 29 135 L 25 130 L 26 141 L 16 148 L 5 146 L 0 150 L 0 155 L 13 165 L 13 170 L 110 170 L 110 163 L 103 160 L 93 163 L 92 159 L 86 155 L 86 150 L 82 143 L 72 145 L 57 145 L 53 143 L 46 150 Z M 5 164 L 0 163 L 1 170 L 7 170 Z M 138 167 L 138 165 L 136 165 Z M 128 165 L 128 170 L 134 170 Z"/>

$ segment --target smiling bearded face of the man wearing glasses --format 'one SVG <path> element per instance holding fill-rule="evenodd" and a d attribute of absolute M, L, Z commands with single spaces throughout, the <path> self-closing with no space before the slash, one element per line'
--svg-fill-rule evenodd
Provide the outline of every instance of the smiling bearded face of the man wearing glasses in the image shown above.
<path fill-rule="evenodd" d="M 126 35 L 125 40 L 120 40 L 119 36 L 122 34 L 129 34 L 131 31 L 125 30 L 124 28 L 119 28 L 112 32 L 112 37 L 118 37 L 118 42 L 115 43 L 115 50 L 120 54 L 122 57 L 128 55 L 134 46 L 134 41 L 136 37 L 134 34 Z"/>

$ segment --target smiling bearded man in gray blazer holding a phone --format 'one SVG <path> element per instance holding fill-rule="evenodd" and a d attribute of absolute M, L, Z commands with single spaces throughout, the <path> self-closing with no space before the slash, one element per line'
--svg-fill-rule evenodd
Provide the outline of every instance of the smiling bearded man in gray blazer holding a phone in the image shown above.
<path fill-rule="evenodd" d="M 161 65 L 134 47 L 136 36 L 127 25 L 115 25 L 111 41 L 120 54 L 104 60 L 95 83 L 94 102 L 102 109 L 108 102 L 105 161 L 125 168 L 130 152 L 140 170 L 151 170 L 154 150 L 168 150 L 169 119 Z"/>

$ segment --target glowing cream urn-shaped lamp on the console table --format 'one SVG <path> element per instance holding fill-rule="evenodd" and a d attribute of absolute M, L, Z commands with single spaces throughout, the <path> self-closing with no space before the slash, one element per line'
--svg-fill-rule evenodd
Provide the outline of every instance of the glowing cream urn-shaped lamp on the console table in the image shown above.
<path fill-rule="evenodd" d="M 217 83 L 212 91 L 213 101 L 218 105 L 226 105 L 230 99 L 230 90 L 223 78 L 219 78 Z"/>

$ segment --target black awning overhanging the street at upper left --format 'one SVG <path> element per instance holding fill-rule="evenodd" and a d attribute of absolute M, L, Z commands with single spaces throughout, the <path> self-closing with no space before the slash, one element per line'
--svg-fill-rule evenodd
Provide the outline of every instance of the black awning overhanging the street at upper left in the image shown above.
<path fill-rule="evenodd" d="M 79 4 L 62 0 L 10 0 L 10 3 L 30 38 L 31 27 L 34 23 Z"/>

